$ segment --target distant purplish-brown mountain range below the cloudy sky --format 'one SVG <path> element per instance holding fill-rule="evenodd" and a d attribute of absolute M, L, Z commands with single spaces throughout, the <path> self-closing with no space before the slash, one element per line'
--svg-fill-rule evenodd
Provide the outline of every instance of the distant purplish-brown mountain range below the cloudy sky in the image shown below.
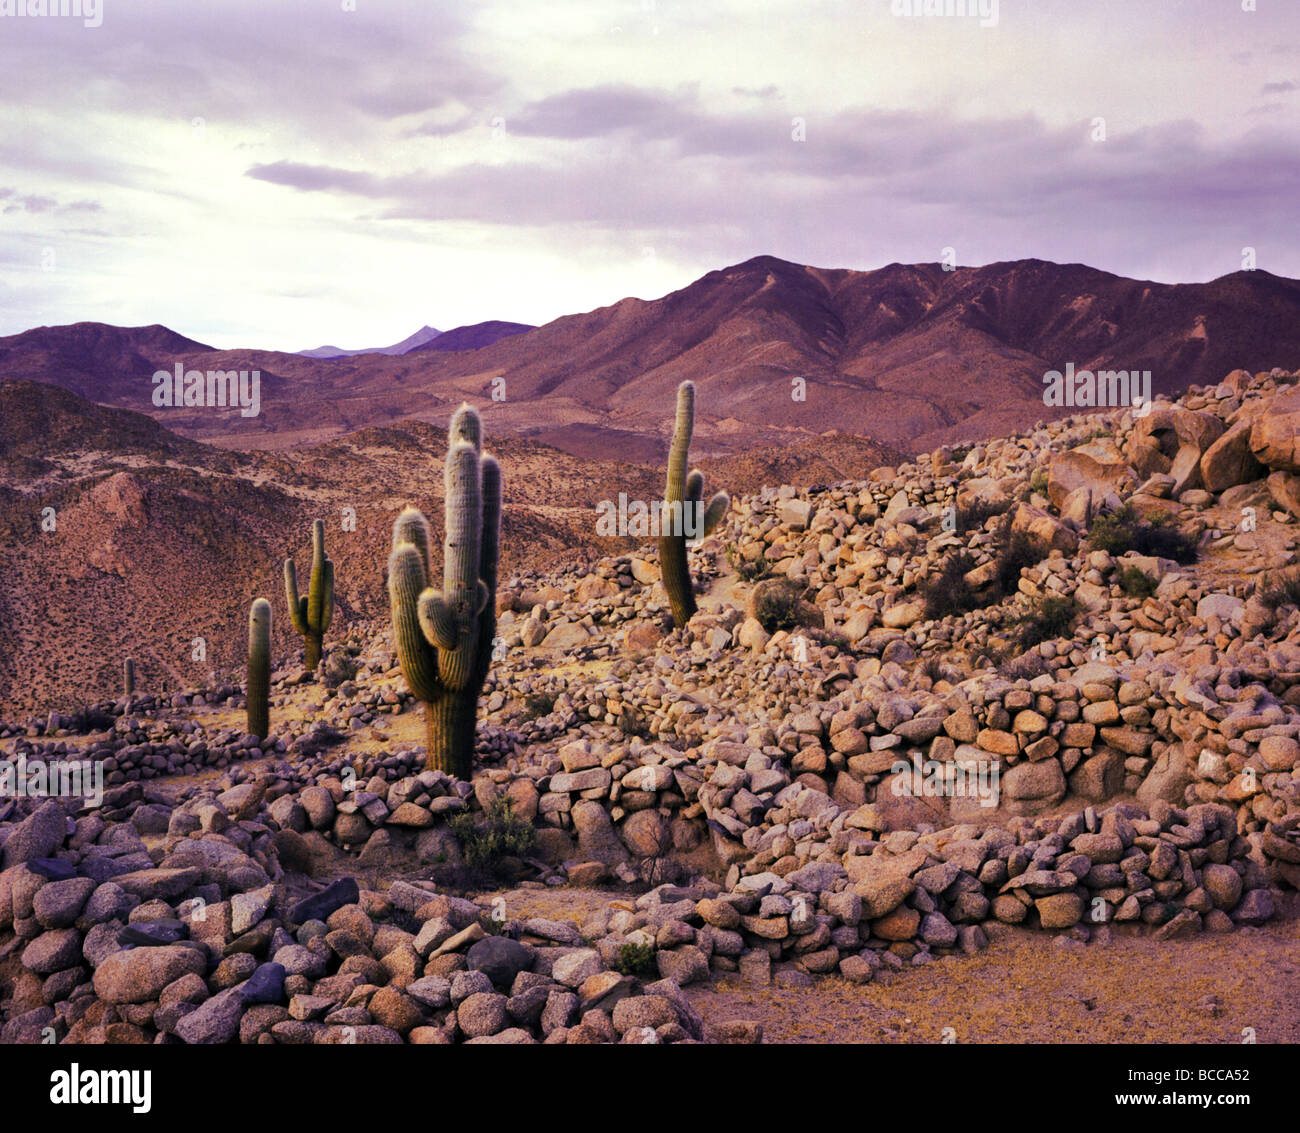
<path fill-rule="evenodd" d="M 0 339 L 0 376 L 64 385 L 237 448 L 291 448 L 411 416 L 445 420 L 469 400 L 497 435 L 597 459 L 656 452 L 673 391 L 689 378 L 701 391 L 699 455 L 796 443 L 828 427 L 915 452 L 1053 416 L 1043 376 L 1070 363 L 1149 369 L 1156 392 L 1217 382 L 1238 366 L 1294 366 L 1300 283 L 1258 270 L 1162 285 L 1041 260 L 853 272 L 759 256 L 653 301 L 624 299 L 486 344 L 490 335 L 464 327 L 464 348 L 450 331 L 395 357 L 200 352 L 178 335 L 164 342 L 161 327 L 101 327 L 114 343 L 101 350 L 84 327 Z M 150 374 L 177 361 L 257 369 L 260 416 L 155 411 Z"/>

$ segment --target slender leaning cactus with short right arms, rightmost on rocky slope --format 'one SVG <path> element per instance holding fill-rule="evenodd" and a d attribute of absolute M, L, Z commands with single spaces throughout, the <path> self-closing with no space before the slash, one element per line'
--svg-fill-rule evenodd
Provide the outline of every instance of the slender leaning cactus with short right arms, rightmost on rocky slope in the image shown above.
<path fill-rule="evenodd" d="M 696 592 L 686 563 L 686 541 L 710 534 L 722 522 L 731 500 L 718 492 L 703 505 L 705 474 L 697 468 L 686 476 L 686 456 L 696 424 L 696 383 L 677 387 L 677 420 L 668 452 L 668 483 L 659 511 L 659 570 L 672 605 L 672 622 L 684 626 L 696 612 Z"/>

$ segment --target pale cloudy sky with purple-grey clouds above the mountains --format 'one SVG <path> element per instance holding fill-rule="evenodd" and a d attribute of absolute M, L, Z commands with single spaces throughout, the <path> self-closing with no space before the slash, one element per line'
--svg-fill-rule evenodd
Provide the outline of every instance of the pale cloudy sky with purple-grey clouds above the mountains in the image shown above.
<path fill-rule="evenodd" d="M 1300 277 L 1296 0 L 27 3 L 0 334 L 378 346 L 760 253 Z"/>

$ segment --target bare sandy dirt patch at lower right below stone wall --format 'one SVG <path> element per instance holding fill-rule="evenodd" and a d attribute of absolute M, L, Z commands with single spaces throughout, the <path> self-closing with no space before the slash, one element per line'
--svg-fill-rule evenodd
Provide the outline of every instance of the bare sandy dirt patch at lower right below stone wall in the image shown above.
<path fill-rule="evenodd" d="M 750 1019 L 764 1042 L 1300 1042 L 1300 900 L 1261 929 L 1157 943 L 1117 937 L 1065 948 L 1011 929 L 978 956 L 939 960 L 858 987 L 688 989 L 707 1021 Z M 1216 997 L 1218 1006 L 1199 1006 Z"/>

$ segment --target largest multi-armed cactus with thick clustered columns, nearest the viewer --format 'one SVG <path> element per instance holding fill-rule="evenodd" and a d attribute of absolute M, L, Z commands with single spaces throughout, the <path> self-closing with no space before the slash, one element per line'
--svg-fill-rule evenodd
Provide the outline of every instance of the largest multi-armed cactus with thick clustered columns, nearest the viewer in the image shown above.
<path fill-rule="evenodd" d="M 478 694 L 497 634 L 500 466 L 482 422 L 462 405 L 447 433 L 442 590 L 429 585 L 429 524 L 407 508 L 393 528 L 389 600 L 402 674 L 428 721 L 426 765 L 468 780 Z"/>

